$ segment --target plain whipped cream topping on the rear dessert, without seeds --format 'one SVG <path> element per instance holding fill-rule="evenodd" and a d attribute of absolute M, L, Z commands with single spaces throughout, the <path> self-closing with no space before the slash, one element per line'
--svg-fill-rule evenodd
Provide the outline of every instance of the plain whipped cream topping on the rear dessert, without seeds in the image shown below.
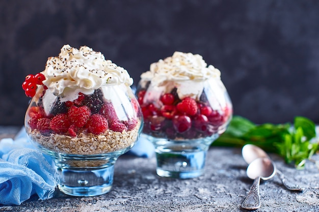
<path fill-rule="evenodd" d="M 203 57 L 199 54 L 175 51 L 173 56 L 158 60 L 150 65 L 150 70 L 141 75 L 142 80 L 151 81 L 154 89 L 170 92 L 177 87 L 180 99 L 192 97 L 199 99 L 203 92 L 205 80 L 220 81 L 221 72 L 214 66 L 207 67 Z"/>

